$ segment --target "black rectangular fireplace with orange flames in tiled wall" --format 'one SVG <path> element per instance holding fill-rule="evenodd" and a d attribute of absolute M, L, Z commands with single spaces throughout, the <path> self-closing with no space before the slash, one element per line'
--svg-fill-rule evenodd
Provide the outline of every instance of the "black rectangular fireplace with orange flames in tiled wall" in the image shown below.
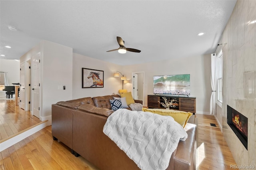
<path fill-rule="evenodd" d="M 242 142 L 244 147 L 247 149 L 248 146 L 248 118 L 228 106 L 228 117 L 227 123 L 230 128 L 234 131 L 236 136 Z"/>

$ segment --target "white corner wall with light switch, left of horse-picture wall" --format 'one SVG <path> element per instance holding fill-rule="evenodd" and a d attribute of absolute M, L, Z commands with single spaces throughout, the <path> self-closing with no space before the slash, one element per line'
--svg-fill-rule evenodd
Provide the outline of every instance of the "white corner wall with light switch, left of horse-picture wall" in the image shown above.
<path fill-rule="evenodd" d="M 37 53 L 41 55 L 40 120 L 51 124 L 52 104 L 72 98 L 73 49 L 44 40 L 22 55 L 20 63 Z M 59 85 L 65 85 L 66 90 L 58 90 Z"/>

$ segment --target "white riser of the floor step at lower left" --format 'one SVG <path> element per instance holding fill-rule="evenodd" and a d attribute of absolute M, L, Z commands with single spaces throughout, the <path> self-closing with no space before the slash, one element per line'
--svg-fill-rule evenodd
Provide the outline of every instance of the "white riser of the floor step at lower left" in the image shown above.
<path fill-rule="evenodd" d="M 24 138 L 34 134 L 35 132 L 38 132 L 39 130 L 45 128 L 47 126 L 47 122 L 44 122 L 36 127 L 30 128 L 29 130 L 26 130 L 25 132 L 22 132 L 8 140 L 5 140 L 4 142 L 0 143 L 0 152 L 3 150 L 9 148 L 10 146 L 20 142 Z"/>

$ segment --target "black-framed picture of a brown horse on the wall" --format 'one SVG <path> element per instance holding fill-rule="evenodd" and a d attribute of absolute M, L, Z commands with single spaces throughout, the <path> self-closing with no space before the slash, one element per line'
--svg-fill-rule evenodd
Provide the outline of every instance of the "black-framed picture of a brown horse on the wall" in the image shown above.
<path fill-rule="evenodd" d="M 82 68 L 82 88 L 104 87 L 104 71 Z"/>

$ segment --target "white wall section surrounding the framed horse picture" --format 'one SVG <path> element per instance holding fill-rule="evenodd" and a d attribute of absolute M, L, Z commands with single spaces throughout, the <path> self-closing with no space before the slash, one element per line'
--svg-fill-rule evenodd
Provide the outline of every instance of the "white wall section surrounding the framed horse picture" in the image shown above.
<path fill-rule="evenodd" d="M 104 87 L 82 88 L 82 68 L 104 71 Z M 116 71 L 120 71 L 122 73 L 122 67 L 106 61 L 73 53 L 72 99 L 112 95 L 112 93 L 118 93 L 118 90 L 122 89 L 122 81 L 120 77 L 114 77 L 114 73 Z"/>

